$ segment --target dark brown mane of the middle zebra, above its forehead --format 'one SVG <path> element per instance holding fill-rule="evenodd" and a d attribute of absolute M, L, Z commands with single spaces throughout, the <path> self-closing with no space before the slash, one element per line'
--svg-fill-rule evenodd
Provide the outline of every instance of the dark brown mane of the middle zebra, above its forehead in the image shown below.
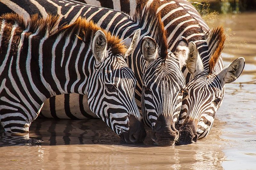
<path fill-rule="evenodd" d="M 164 23 L 161 20 L 161 12 L 157 13 L 157 8 L 155 6 L 143 7 L 141 5 L 140 9 L 137 9 L 132 19 L 137 22 L 140 26 L 146 26 L 146 28 L 154 31 L 154 38 L 159 50 L 160 57 L 166 59 L 167 57 L 167 38 L 166 31 L 164 29 Z"/>

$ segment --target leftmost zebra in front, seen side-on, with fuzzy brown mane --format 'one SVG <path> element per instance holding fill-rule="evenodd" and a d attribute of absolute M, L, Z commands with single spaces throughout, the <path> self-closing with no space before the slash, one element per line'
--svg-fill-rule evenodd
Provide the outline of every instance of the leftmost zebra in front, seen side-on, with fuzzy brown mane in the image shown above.
<path fill-rule="evenodd" d="M 10 13 L 0 17 L 4 130 L 28 133 L 47 98 L 78 93 L 88 96 L 92 112 L 122 141 L 142 142 L 146 131 L 134 98 L 136 79 L 124 60 L 138 41 L 127 49 L 92 21 L 78 17 L 73 24 L 58 27 L 58 20 L 37 14 L 29 20 Z"/>

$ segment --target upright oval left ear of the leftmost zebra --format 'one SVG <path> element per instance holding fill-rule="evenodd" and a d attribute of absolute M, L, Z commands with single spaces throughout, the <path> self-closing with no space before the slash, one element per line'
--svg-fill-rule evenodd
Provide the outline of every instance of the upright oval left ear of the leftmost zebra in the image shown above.
<path fill-rule="evenodd" d="M 98 30 L 92 38 L 92 54 L 96 62 L 102 62 L 107 57 L 107 39 L 101 30 Z"/>

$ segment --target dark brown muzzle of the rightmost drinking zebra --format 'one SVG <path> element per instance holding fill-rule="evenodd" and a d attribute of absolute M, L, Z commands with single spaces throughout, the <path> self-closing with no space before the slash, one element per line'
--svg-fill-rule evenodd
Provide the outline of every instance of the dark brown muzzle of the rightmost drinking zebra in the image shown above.
<path fill-rule="evenodd" d="M 179 128 L 180 137 L 175 143 L 176 145 L 186 145 L 197 141 L 196 124 L 190 121 Z"/>

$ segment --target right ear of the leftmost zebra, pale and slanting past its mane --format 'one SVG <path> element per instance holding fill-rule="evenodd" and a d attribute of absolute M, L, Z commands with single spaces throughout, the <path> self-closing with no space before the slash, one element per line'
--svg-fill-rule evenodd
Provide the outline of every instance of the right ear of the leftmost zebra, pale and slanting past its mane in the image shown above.
<path fill-rule="evenodd" d="M 124 43 L 128 50 L 125 52 L 125 57 L 132 54 L 132 52 L 136 49 L 140 40 L 140 29 L 137 29 L 135 33 L 127 38 L 125 38 L 121 43 Z"/>

